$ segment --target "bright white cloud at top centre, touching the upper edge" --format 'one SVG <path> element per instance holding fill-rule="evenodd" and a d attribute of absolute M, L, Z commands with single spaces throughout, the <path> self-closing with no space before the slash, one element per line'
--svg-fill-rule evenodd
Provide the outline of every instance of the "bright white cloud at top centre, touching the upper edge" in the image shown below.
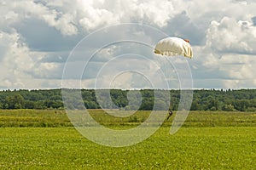
<path fill-rule="evenodd" d="M 143 22 L 154 26 L 166 26 L 179 9 L 172 1 L 78 1 L 79 23 L 91 30 L 98 26 L 109 26 L 120 22 Z"/>

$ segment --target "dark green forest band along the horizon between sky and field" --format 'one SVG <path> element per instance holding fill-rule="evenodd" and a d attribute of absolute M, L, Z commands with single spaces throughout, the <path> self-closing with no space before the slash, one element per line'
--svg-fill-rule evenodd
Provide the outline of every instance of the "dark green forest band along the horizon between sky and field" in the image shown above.
<path fill-rule="evenodd" d="M 170 108 L 177 111 L 178 105 L 183 103 L 180 94 L 180 90 L 174 89 L 3 90 L 0 91 L 0 109 L 80 110 L 85 106 L 86 109 L 151 111 Z M 181 107 L 190 111 L 256 111 L 256 89 L 197 89 L 193 91 L 192 104 Z"/>

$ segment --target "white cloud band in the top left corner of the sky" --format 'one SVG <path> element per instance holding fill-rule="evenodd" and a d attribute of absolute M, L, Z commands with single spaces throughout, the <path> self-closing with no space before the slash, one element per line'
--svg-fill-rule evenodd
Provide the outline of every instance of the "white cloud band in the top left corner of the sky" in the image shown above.
<path fill-rule="evenodd" d="M 52 3 L 57 5 L 57 3 Z M 9 1 L 1 6 L 1 15 L 5 17 L 0 20 L 0 26 L 12 24 L 29 18 L 44 20 L 49 26 L 61 31 L 63 35 L 74 35 L 78 29 L 74 24 L 73 14 L 66 11 L 58 11 L 55 8 L 44 6 L 42 3 L 35 3 L 31 0 Z"/>

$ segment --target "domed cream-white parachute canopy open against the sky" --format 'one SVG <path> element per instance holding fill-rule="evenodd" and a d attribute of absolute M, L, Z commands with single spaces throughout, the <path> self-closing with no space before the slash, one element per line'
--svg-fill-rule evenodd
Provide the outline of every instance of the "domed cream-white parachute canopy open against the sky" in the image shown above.
<path fill-rule="evenodd" d="M 193 57 L 189 40 L 179 37 L 166 37 L 160 40 L 155 45 L 154 53 L 167 56 L 183 55 L 189 58 Z"/>

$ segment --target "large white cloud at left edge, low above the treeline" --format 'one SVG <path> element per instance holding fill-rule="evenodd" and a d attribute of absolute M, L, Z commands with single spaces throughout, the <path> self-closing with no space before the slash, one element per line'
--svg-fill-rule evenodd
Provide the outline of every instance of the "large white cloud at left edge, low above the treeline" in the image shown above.
<path fill-rule="evenodd" d="M 5 49 L 1 50 L 1 88 L 32 88 L 35 77 L 51 78 L 59 70 L 55 63 L 40 63 L 46 54 L 31 51 L 17 32 L 0 32 L 0 35 L 0 49 Z"/>

